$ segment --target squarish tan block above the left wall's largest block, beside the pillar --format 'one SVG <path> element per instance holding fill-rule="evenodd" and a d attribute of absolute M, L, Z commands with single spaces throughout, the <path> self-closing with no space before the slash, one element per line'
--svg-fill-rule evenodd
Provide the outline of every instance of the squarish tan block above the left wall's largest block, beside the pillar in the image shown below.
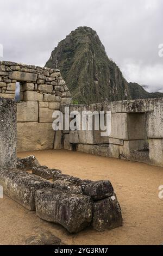
<path fill-rule="evenodd" d="M 38 114 L 39 107 L 37 102 L 17 103 L 17 122 L 37 122 Z"/>

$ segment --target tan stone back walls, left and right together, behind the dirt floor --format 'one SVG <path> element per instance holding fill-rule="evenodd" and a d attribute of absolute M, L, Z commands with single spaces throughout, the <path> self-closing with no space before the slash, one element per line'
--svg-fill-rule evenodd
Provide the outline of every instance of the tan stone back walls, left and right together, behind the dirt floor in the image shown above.
<path fill-rule="evenodd" d="M 59 70 L 0 62 L 0 96 L 13 99 L 16 82 L 20 82 L 21 90 L 17 151 L 64 148 L 163 166 L 163 99 L 72 105 Z M 52 113 L 60 109 L 64 114 L 65 104 L 70 112 L 110 111 L 109 138 L 95 130 L 54 132 Z"/>

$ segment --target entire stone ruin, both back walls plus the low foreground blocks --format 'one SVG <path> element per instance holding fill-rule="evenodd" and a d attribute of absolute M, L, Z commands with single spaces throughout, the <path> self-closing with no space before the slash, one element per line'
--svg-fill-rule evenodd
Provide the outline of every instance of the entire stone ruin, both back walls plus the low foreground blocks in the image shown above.
<path fill-rule="evenodd" d="M 16 82 L 20 83 L 18 103 L 13 100 Z M 16 149 L 64 148 L 163 166 L 163 99 L 73 105 L 59 70 L 11 62 L 0 63 L 0 90 L 0 184 L 4 192 L 70 233 L 89 225 L 98 231 L 121 226 L 120 204 L 109 180 L 65 175 L 40 166 L 34 156 L 16 159 Z M 78 113 L 110 111 L 110 136 L 102 137 L 101 130 L 95 129 L 54 131 L 52 114 L 60 109 L 65 116 L 65 106 Z"/>

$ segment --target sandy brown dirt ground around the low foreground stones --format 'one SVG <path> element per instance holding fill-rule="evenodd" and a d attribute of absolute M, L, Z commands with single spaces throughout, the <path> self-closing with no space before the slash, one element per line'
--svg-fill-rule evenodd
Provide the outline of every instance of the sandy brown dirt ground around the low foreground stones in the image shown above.
<path fill-rule="evenodd" d="M 51 231 L 67 245 L 160 245 L 163 242 L 163 167 L 65 150 L 19 153 L 82 179 L 109 179 L 123 214 L 123 227 L 98 232 L 91 227 L 70 235 L 58 224 L 40 220 L 7 196 L 0 199 L 0 244 L 24 244 L 28 236 Z"/>

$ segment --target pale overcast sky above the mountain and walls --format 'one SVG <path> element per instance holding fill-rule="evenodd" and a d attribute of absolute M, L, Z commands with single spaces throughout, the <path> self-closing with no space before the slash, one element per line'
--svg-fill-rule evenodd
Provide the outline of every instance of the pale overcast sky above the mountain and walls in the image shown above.
<path fill-rule="evenodd" d="M 162 0 L 0 0 L 0 10 L 0 60 L 44 66 L 60 40 L 88 26 L 128 82 L 163 92 Z"/>

